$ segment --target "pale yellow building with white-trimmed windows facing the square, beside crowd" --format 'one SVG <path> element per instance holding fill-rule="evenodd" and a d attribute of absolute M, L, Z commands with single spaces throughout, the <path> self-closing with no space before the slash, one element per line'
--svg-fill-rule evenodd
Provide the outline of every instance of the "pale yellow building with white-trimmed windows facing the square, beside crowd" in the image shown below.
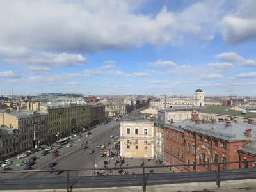
<path fill-rule="evenodd" d="M 154 158 L 154 122 L 124 121 L 120 124 L 120 156 Z"/>

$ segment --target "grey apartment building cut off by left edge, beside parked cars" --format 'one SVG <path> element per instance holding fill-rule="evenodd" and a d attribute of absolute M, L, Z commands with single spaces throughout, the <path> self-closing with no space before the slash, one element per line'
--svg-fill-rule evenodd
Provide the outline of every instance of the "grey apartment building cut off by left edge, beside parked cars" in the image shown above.
<path fill-rule="evenodd" d="M 0 127 L 0 160 L 5 157 L 14 156 L 20 152 L 19 132 L 17 129 L 10 127 Z"/>

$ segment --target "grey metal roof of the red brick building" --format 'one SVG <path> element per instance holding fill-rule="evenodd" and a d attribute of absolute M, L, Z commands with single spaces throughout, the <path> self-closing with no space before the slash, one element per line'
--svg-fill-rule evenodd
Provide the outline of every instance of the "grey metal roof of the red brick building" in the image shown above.
<path fill-rule="evenodd" d="M 186 125 L 188 131 L 196 131 L 227 141 L 253 140 L 256 138 L 256 125 L 248 122 L 230 121 L 230 127 L 226 127 L 226 122 L 216 122 L 210 124 Z M 246 129 L 252 129 L 252 136 L 245 136 Z"/>

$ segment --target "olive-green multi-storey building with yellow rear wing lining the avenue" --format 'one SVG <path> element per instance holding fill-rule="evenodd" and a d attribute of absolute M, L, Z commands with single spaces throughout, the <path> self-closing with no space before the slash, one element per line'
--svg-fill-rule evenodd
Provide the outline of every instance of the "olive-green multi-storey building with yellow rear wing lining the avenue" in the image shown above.
<path fill-rule="evenodd" d="M 27 106 L 48 114 L 48 135 L 51 141 L 90 126 L 91 106 L 85 102 L 36 102 L 28 103 Z"/>

